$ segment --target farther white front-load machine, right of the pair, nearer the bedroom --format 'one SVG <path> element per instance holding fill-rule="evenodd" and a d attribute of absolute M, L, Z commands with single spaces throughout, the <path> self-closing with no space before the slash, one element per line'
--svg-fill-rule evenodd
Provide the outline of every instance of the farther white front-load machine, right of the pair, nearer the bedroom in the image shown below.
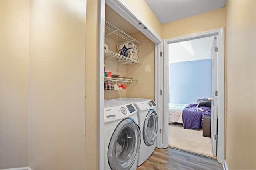
<path fill-rule="evenodd" d="M 140 166 L 150 157 L 156 147 L 158 129 L 156 102 L 152 99 L 143 98 L 119 98 L 110 101 L 132 102 L 138 110 L 138 124 L 142 133 L 137 160 L 137 166 Z"/>

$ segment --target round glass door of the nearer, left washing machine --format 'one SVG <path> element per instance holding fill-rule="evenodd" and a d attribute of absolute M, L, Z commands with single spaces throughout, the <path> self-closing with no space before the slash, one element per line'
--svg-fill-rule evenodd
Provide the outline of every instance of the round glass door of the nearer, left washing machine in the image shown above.
<path fill-rule="evenodd" d="M 128 170 L 134 164 L 140 148 L 141 133 L 133 119 L 122 120 L 108 145 L 108 164 L 112 170 Z"/>

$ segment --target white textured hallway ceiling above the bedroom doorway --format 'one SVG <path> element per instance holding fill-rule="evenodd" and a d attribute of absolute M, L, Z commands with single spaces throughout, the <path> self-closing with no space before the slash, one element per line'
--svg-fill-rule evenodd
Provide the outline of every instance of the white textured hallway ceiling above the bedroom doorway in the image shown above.
<path fill-rule="evenodd" d="M 216 10 L 226 5 L 226 0 L 145 1 L 162 24 Z"/>

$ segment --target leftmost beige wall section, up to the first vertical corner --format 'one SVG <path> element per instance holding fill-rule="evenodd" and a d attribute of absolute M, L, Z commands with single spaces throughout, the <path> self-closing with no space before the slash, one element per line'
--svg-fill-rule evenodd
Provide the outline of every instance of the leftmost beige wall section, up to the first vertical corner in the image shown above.
<path fill-rule="evenodd" d="M 29 0 L 0 0 L 0 169 L 28 166 Z"/>

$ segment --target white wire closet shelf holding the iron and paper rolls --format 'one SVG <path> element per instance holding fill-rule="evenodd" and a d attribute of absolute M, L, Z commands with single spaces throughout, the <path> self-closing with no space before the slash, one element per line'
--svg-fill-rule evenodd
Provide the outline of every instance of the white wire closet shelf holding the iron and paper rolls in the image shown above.
<path fill-rule="evenodd" d="M 140 63 L 139 61 L 136 60 L 132 60 L 129 57 L 126 57 L 124 55 L 120 55 L 118 53 L 115 53 L 113 51 L 104 49 L 104 53 L 105 53 L 105 60 L 111 59 L 113 57 L 115 57 L 118 61 L 118 65 L 123 65 L 123 64 L 138 64 Z"/>

